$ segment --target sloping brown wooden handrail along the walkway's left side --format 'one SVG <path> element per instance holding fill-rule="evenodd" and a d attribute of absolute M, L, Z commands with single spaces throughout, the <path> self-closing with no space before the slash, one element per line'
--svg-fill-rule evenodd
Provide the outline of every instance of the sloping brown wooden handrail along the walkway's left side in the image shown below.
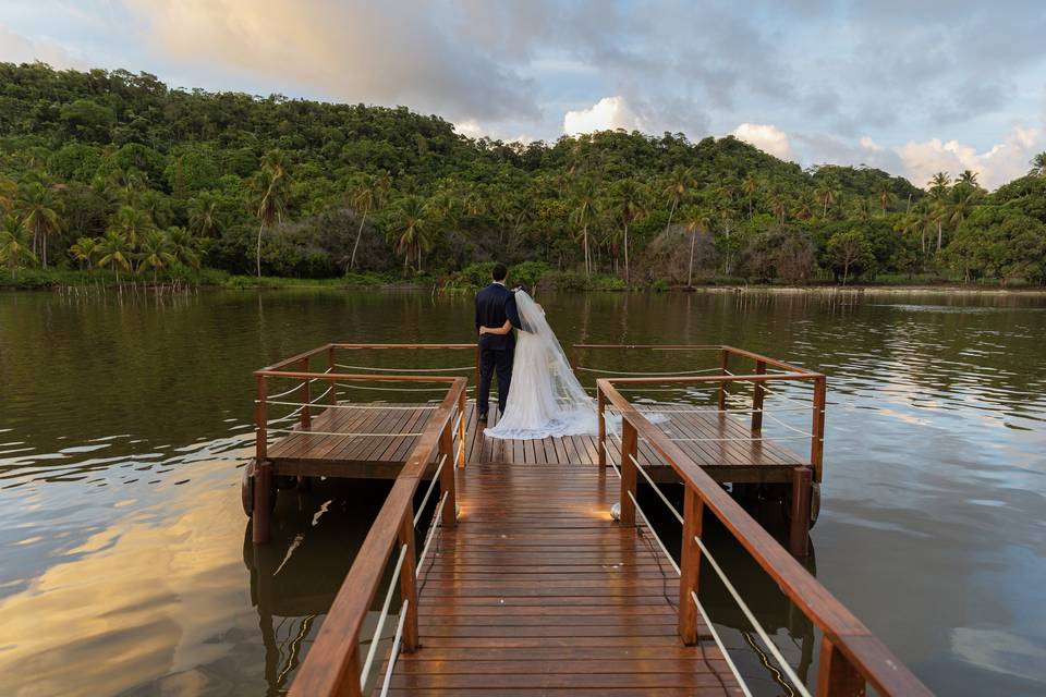
<path fill-rule="evenodd" d="M 389 554 L 397 541 L 406 535 L 408 525 L 410 525 L 410 539 L 413 540 L 414 494 L 429 465 L 429 455 L 437 447 L 441 450 L 447 449 L 447 431 L 452 427 L 451 419 L 462 403 L 461 398 L 467 383 L 465 378 L 441 378 L 429 381 L 446 382 L 448 380 L 452 384 L 433 413 L 424 432 L 418 437 L 417 444 L 408 456 L 406 464 L 396 478 L 392 490 L 356 553 L 349 574 L 330 606 L 327 619 L 291 685 L 291 697 L 335 695 L 355 697 L 361 694 L 360 665 L 356 658 L 360 633 L 378 592 Z M 453 473 L 452 467 L 446 467 L 445 470 Z M 451 517 L 455 504 L 452 500 L 453 489 L 449 488 L 448 492 L 448 500 L 443 508 L 443 525 L 453 524 Z M 450 514 L 447 513 L 448 509 Z M 409 545 L 409 554 L 411 554 L 411 563 L 404 564 L 401 571 L 401 594 L 414 596 L 411 599 L 411 608 L 414 609 L 415 624 L 405 627 L 404 636 L 413 636 L 416 639 L 417 598 L 413 580 L 413 542 Z M 397 579 L 393 578 L 391 583 L 397 583 Z M 412 649 L 413 644 L 404 641 L 404 650 Z"/>

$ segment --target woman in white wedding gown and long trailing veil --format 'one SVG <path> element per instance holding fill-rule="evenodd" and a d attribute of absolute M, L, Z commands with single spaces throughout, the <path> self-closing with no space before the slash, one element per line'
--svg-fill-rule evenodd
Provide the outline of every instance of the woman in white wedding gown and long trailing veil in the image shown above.
<path fill-rule="evenodd" d="M 574 377 L 545 310 L 525 291 L 515 292 L 522 329 L 516 337 L 512 381 L 504 414 L 491 438 L 532 440 L 598 432 L 596 405 Z M 481 327 L 481 334 L 507 334 L 503 327 Z"/>

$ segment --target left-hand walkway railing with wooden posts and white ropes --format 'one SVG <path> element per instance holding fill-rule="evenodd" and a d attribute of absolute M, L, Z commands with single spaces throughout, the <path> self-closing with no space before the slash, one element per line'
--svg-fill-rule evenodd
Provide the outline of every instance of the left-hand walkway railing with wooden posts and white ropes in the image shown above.
<path fill-rule="evenodd" d="M 340 379 L 340 378 L 339 378 Z M 433 378 L 425 378 L 431 380 Z M 453 424 L 455 416 L 464 414 L 465 378 L 443 378 L 449 381 L 446 396 L 425 426 L 424 432 L 411 451 L 406 464 L 392 485 L 381 510 L 378 512 L 367 537 L 356 552 L 355 560 L 344 583 L 338 591 L 316 640 L 306 656 L 291 685 L 292 697 L 356 697 L 363 694 L 379 669 L 378 645 L 382 638 L 386 619 L 389 616 L 397 583 L 401 598 L 399 621 L 385 672 L 382 694 L 400 650 L 417 648 L 417 568 L 425 561 L 436 528 L 457 524 L 454 488 L 455 469 L 447 466 L 453 458 Z M 421 486 L 434 450 L 439 453 L 439 469 L 414 510 L 414 496 Z M 421 514 L 433 494 L 436 482 L 440 486 L 439 503 L 419 557 L 415 557 L 414 535 Z M 416 559 L 416 562 L 415 562 Z M 394 561 L 393 561 L 394 560 Z M 360 663 L 361 634 L 367 613 L 377 597 L 385 577 L 385 570 L 392 562 L 392 578 L 378 616 L 377 627 L 370 638 L 369 650 Z"/>

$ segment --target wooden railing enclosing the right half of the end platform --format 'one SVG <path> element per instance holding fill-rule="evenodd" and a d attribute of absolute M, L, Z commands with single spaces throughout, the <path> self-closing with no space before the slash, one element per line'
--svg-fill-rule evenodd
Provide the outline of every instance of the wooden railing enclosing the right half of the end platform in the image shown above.
<path fill-rule="evenodd" d="M 580 365 L 579 352 L 585 350 L 715 352 L 718 354 L 718 366 L 664 372 L 628 372 Z M 731 358 L 751 360 L 752 369 L 750 371 L 734 372 L 731 370 Z M 733 363 L 735 367 L 737 360 Z M 820 372 L 807 370 L 782 360 L 777 360 L 776 358 L 770 358 L 769 356 L 745 351 L 744 348 L 722 344 L 575 344 L 571 350 L 571 367 L 575 372 L 612 376 L 615 384 L 624 386 L 619 392 L 624 390 L 648 391 L 653 389 L 654 391 L 658 391 L 666 389 L 664 387 L 656 388 L 652 386 L 671 386 L 667 388 L 670 391 L 685 388 L 713 388 L 716 392 L 716 408 L 709 411 L 723 416 L 751 415 L 749 424 L 750 440 L 763 440 L 766 419 L 770 419 L 790 431 L 788 436 L 778 440 L 808 440 L 808 463 L 813 468 L 812 480 L 818 484 L 822 480 L 825 451 L 827 378 Z M 740 391 L 735 389 L 738 386 L 746 384 L 752 386 L 752 394 L 749 398 L 740 394 Z M 812 394 L 808 395 L 808 399 L 806 399 L 806 395 L 803 398 L 799 395 L 788 395 L 783 392 L 786 384 L 810 386 L 813 388 Z M 779 387 L 781 390 L 778 390 Z M 773 399 L 774 395 L 778 395 L 788 406 L 770 413 L 767 406 L 767 400 Z M 606 421 L 604 418 L 606 399 L 598 390 L 596 400 L 599 409 L 599 464 L 606 466 Z M 810 412 L 808 431 L 798 429 L 775 415 L 781 412 L 796 413 L 804 411 Z"/>

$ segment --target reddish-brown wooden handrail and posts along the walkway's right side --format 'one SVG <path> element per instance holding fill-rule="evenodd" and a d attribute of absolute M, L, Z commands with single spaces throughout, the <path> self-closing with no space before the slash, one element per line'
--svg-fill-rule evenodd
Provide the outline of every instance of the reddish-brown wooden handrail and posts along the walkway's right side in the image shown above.
<path fill-rule="evenodd" d="M 804 375 L 803 378 L 808 379 L 812 376 L 820 377 L 811 374 Z M 765 375 L 739 377 L 757 379 L 758 381 L 770 378 L 770 376 Z M 642 412 L 636 409 L 613 387 L 615 383 L 631 382 L 632 380 L 600 378 L 596 381 L 600 394 L 600 404 L 606 402 L 612 404 L 622 416 L 623 430 L 634 432 L 634 436 L 629 433 L 629 443 L 624 443 L 622 438 L 622 468 L 625 468 L 627 465 L 625 453 L 632 452 L 625 445 L 632 447 L 636 439 L 645 439 L 647 444 L 676 470 L 685 487 L 688 499 L 691 496 L 696 496 L 698 499 L 698 501 L 691 501 L 684 505 L 686 517 L 691 517 L 690 521 L 684 517 L 684 534 L 694 529 L 700 530 L 696 527 L 697 521 L 693 519 L 692 516 L 700 514 L 704 508 L 709 509 L 803 614 L 820 628 L 824 633 L 825 643 L 822 647 L 823 659 L 817 681 L 818 694 L 861 694 L 858 689 L 863 688 L 863 682 L 867 681 L 881 695 L 931 695 L 932 693 L 926 686 L 881 641 L 875 638 L 860 620 L 847 610 L 835 596 L 828 592 L 697 463 L 672 442 L 661 429 L 654 426 Z M 684 379 L 670 379 L 672 382 L 682 380 Z M 685 380 L 694 379 L 685 378 Z M 665 381 L 665 378 L 661 378 L 661 381 Z M 601 418 L 603 415 L 600 414 L 600 420 Z M 600 443 L 600 450 L 604 448 L 605 443 Z M 628 481 L 625 480 L 627 476 L 629 477 Z M 632 487 L 629 490 L 634 493 L 634 472 L 627 475 L 622 470 L 622 524 L 628 524 L 627 516 L 629 519 L 634 516 L 634 511 L 627 511 L 629 508 L 625 504 L 627 497 L 624 496 L 627 486 Z M 631 501 L 629 503 L 631 504 Z M 686 540 L 683 540 L 683 549 L 688 551 L 685 561 L 691 565 L 697 564 L 700 555 L 695 554 L 692 549 L 688 549 L 686 542 Z M 696 583 L 697 577 L 696 566 L 688 566 L 682 570 L 681 597 L 682 591 L 685 591 L 685 597 L 689 597 L 690 590 L 695 590 L 695 588 L 684 588 L 682 584 Z M 682 601 L 680 608 L 681 613 L 685 612 L 685 603 Z M 693 622 L 692 616 L 681 614 L 681 632 L 692 633 Z M 683 637 L 684 640 L 686 638 Z M 862 684 L 855 684 L 854 672 L 860 674 L 858 682 Z"/>

